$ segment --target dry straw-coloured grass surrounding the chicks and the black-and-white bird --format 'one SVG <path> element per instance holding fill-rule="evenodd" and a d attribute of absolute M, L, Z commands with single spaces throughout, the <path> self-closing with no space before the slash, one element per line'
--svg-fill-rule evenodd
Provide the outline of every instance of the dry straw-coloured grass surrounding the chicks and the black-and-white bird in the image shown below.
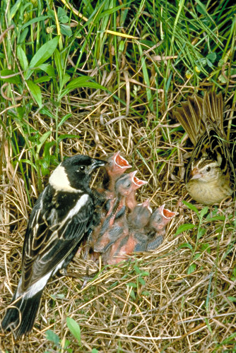
<path fill-rule="evenodd" d="M 186 93 L 187 89 L 184 91 Z M 192 92 L 189 88 L 189 92 Z M 177 93 L 177 96 L 179 93 Z M 60 134 L 72 133 L 80 139 L 61 143 L 61 155 L 76 152 L 102 156 L 120 150 L 138 169 L 138 177 L 148 181 L 138 193 L 140 200 L 151 198 L 152 205 L 165 203 L 177 210 L 177 201 L 186 196 L 181 181 L 186 153 L 186 138 L 173 131 L 176 122 L 163 119 L 153 124 L 155 116 L 141 118 L 120 116 L 119 107 L 108 96 L 70 97 L 64 112 L 73 113 L 61 126 Z M 163 100 L 163 102 L 162 102 Z M 82 104 L 83 103 L 83 107 Z M 85 108 L 84 108 L 85 104 Z M 165 107 L 160 95 L 160 107 Z M 138 108 L 141 112 L 142 107 Z M 119 118 L 117 118 L 119 116 Z M 50 128 L 49 118 L 35 114 L 34 124 L 40 133 Z M 173 125 L 175 124 L 175 125 Z M 4 132 L 1 131 L 4 141 Z M 163 138 L 165 136 L 165 138 Z M 181 142 L 180 142 L 181 141 Z M 171 150 L 167 154 L 165 151 Z M 22 153 L 27 157 L 28 151 Z M 169 157 L 167 157 L 169 156 Z M 12 160 L 11 148 L 3 143 L 1 184 L 1 316 L 8 305 L 20 277 L 20 257 L 30 205 L 18 164 Z M 31 198 L 38 195 L 37 180 L 32 174 Z M 45 178 L 45 182 L 47 178 Z M 203 208 L 199 206 L 199 210 Z M 105 268 L 81 289 L 82 281 L 70 277 L 53 279 L 42 298 L 35 328 L 28 337 L 14 342 L 11 333 L 0 334 L 4 352 L 59 352 L 45 338 L 51 329 L 71 342 L 73 352 L 236 352 L 235 348 L 235 220 L 233 203 L 220 205 L 218 214 L 224 220 L 203 222 L 205 234 L 196 239 L 197 228 L 175 236 L 179 225 L 199 224 L 196 214 L 185 206 L 167 230 L 165 241 L 157 251 L 132 256 L 121 266 Z M 208 211 L 213 212 L 214 208 Z M 182 247 L 182 244 L 188 246 Z M 194 249 L 195 248 L 195 249 Z M 196 265 L 189 273 L 189 266 Z M 69 270 L 85 273 L 98 269 L 92 261 L 76 256 Z M 138 268 L 148 272 L 138 280 Z M 131 283 L 137 284 L 136 288 Z M 143 292 L 145 291 L 145 292 Z M 81 326 L 82 347 L 66 327 L 66 316 Z M 230 336 L 233 336 L 230 339 Z M 61 349 L 61 352 L 66 350 Z"/>

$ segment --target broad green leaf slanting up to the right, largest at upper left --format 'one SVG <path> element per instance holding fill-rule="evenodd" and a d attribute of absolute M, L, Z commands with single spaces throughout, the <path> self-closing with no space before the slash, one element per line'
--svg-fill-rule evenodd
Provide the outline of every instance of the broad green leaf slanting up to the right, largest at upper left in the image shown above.
<path fill-rule="evenodd" d="M 47 43 L 43 44 L 40 49 L 35 53 L 30 61 L 29 68 L 35 68 L 43 64 L 50 56 L 54 53 L 59 42 L 59 36 L 54 37 L 53 40 L 49 40 Z"/>

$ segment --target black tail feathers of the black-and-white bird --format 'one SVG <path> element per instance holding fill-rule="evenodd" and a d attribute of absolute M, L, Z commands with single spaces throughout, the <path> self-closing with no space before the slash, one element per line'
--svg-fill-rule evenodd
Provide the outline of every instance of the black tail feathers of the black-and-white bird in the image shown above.
<path fill-rule="evenodd" d="M 42 290 L 37 292 L 33 297 L 20 298 L 16 303 L 8 308 L 1 328 L 3 330 L 11 329 L 16 337 L 20 337 L 25 333 L 29 333 L 35 323 L 35 317 L 40 306 L 40 299 L 42 297 Z M 16 299 L 13 297 L 13 301 Z"/>

